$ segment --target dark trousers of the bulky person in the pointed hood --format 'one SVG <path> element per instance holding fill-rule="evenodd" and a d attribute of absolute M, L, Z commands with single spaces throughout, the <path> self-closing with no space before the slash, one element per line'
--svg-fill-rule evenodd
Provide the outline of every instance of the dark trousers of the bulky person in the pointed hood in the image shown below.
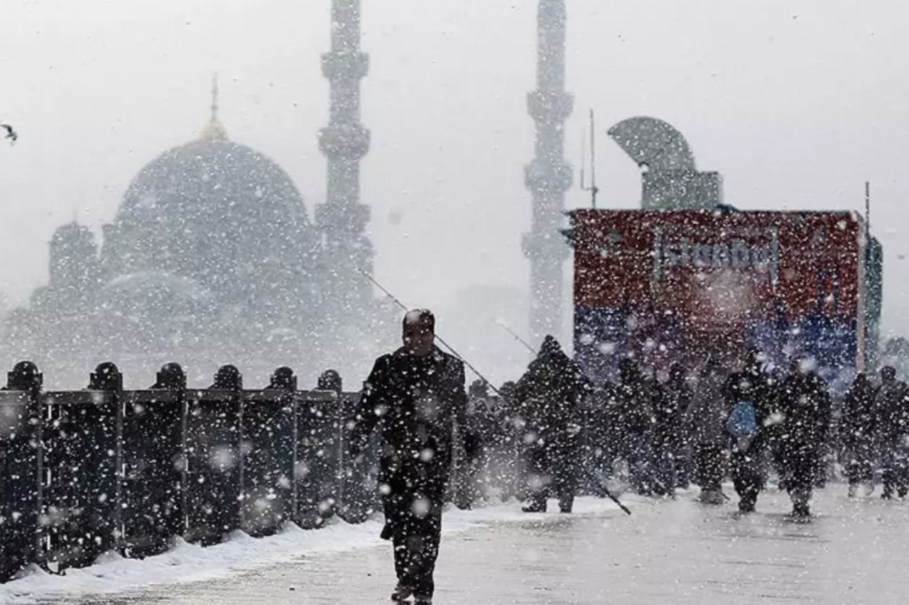
<path fill-rule="evenodd" d="M 544 439 L 542 443 L 534 444 L 528 454 L 528 491 L 532 506 L 544 511 L 546 499 L 554 495 L 563 510 L 571 511 L 581 455 L 575 440 L 571 437 Z"/>

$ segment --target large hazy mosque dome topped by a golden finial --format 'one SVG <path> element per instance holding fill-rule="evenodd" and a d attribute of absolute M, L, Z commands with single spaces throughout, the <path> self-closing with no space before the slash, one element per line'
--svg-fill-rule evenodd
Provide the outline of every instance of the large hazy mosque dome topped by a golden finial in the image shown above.
<path fill-rule="evenodd" d="M 299 265 L 313 249 L 315 229 L 290 176 L 230 141 L 216 109 L 202 136 L 158 155 L 127 187 L 105 225 L 109 278 L 155 271 L 223 291 L 269 267 Z"/>

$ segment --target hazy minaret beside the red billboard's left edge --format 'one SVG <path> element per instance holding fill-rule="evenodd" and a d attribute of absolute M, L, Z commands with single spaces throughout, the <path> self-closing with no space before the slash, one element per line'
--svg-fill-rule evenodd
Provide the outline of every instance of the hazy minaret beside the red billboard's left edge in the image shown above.
<path fill-rule="evenodd" d="M 539 0 L 537 10 L 536 90 L 527 97 L 536 123 L 536 155 L 524 167 L 524 183 L 534 196 L 531 231 L 524 235 L 530 260 L 530 331 L 534 342 L 562 332 L 562 276 L 568 247 L 559 229 L 565 192 L 572 183 L 564 161 L 564 123 L 574 98 L 565 92 L 565 3 Z"/>

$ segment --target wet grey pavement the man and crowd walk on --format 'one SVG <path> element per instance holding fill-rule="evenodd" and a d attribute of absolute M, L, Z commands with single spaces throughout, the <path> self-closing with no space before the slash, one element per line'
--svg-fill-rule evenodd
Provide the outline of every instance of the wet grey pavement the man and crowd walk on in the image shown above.
<path fill-rule="evenodd" d="M 876 494 L 875 494 L 876 495 Z M 772 490 L 744 517 L 734 501 L 694 494 L 637 504 L 634 515 L 532 515 L 446 536 L 437 605 L 476 602 L 896 604 L 909 599 L 909 502 L 848 501 L 818 492 L 816 517 L 786 517 Z M 287 561 L 230 579 L 153 587 L 55 605 L 384 603 L 395 584 L 389 548 Z"/>

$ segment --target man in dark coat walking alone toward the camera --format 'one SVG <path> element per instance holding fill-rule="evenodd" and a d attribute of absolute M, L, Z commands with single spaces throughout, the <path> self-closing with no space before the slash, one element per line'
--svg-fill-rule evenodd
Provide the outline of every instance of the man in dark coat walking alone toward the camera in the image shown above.
<path fill-rule="evenodd" d="M 403 347 L 375 361 L 365 382 L 350 453 L 356 460 L 379 427 L 382 535 L 394 544 L 398 578 L 392 600 L 413 595 L 415 605 L 429 605 L 455 425 L 468 456 L 478 444 L 467 422 L 464 363 L 435 347 L 433 313 L 407 312 L 403 340 Z"/>

